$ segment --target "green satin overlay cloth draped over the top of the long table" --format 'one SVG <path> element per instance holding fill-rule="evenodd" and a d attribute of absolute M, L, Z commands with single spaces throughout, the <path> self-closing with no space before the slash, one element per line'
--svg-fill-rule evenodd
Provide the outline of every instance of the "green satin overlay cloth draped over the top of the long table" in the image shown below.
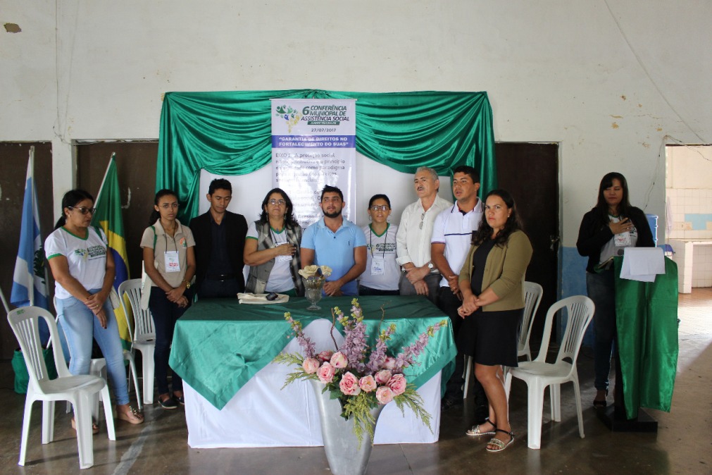
<path fill-rule="evenodd" d="M 321 310 L 305 310 L 305 298 L 290 298 L 285 304 L 244 305 L 237 299 L 204 298 L 179 318 L 173 335 L 170 366 L 185 382 L 217 409 L 222 409 L 251 377 L 268 365 L 289 343 L 291 328 L 285 312 L 300 320 L 303 328 L 319 318 L 331 320 L 331 308 L 350 313 L 352 297 L 324 298 Z M 441 310 L 422 296 L 369 296 L 359 298 L 364 323 L 375 345 L 377 328 L 391 323 L 396 331 L 388 342 L 389 353 L 397 355 L 412 345 L 428 326 L 447 320 Z M 381 323 L 381 306 L 385 318 Z M 343 333 L 343 328 L 336 323 Z M 336 350 L 317 348 L 321 350 Z M 404 370 L 409 383 L 422 386 L 456 355 L 450 325 L 430 338 L 413 365 Z"/>

